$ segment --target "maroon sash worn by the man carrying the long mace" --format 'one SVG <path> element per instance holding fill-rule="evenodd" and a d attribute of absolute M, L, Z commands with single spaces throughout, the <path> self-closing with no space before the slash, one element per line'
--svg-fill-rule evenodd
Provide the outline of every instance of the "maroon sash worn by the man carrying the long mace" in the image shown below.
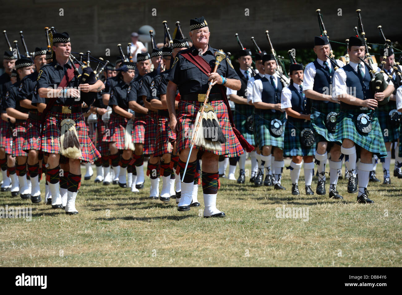
<path fill-rule="evenodd" d="M 193 63 L 196 67 L 198 67 L 205 75 L 208 75 L 208 73 L 212 72 L 211 66 L 209 63 L 205 61 L 201 56 L 199 55 L 192 55 L 189 52 L 186 53 L 181 53 L 181 56 L 183 56 L 185 59 L 187 59 L 189 62 Z M 219 87 L 219 91 L 221 92 L 222 98 L 224 99 L 224 102 L 226 104 L 226 108 L 228 109 L 228 116 L 229 116 L 229 122 L 230 125 L 232 126 L 234 135 L 237 137 L 239 140 L 241 146 L 243 149 L 245 149 L 248 153 L 254 151 L 254 146 L 249 144 L 246 140 L 246 138 L 243 137 L 243 135 L 237 130 L 234 126 L 233 122 L 233 116 L 232 116 L 232 110 L 230 110 L 229 106 L 229 100 L 228 97 L 226 96 L 226 89 L 224 85 L 221 84 L 216 84 Z"/>

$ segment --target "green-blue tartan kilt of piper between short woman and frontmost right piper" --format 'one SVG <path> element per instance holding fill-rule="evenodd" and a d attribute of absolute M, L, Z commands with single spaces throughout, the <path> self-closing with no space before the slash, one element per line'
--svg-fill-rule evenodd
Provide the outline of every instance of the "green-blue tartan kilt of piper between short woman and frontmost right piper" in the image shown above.
<path fill-rule="evenodd" d="M 313 100 L 312 100 L 313 101 Z M 337 138 L 339 128 L 339 118 L 336 122 L 336 129 L 334 132 L 329 132 L 325 126 L 326 116 L 330 112 L 340 112 L 339 104 L 334 102 L 328 102 L 327 104 L 321 100 L 315 100 L 312 102 L 311 108 L 311 124 L 314 128 L 314 137 L 316 138 L 316 143 L 320 141 L 326 142 L 338 142 L 338 144 L 342 144 L 342 141 Z"/>

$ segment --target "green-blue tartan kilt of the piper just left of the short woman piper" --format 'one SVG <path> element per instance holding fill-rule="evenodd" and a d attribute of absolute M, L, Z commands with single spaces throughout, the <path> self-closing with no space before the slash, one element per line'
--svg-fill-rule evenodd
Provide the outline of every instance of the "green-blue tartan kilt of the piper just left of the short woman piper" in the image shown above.
<path fill-rule="evenodd" d="M 283 124 L 283 129 L 285 129 L 286 116 L 285 112 L 271 112 L 271 110 L 265 110 L 263 114 L 255 114 L 254 115 L 254 129 L 257 133 L 258 138 L 258 147 L 260 149 L 265 145 L 276 146 L 279 149 L 283 149 L 283 137 L 284 133 L 281 136 L 275 137 L 269 131 L 271 126 L 271 120 L 278 119 Z"/>

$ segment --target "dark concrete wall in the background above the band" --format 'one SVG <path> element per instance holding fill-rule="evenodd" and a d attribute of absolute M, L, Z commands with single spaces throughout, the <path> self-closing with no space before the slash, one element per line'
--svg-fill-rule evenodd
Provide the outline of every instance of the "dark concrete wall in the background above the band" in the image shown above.
<path fill-rule="evenodd" d="M 95 57 L 105 55 L 105 49 L 111 49 L 117 55 L 117 44 L 127 44 L 130 33 L 148 24 L 156 31 L 156 42 L 162 41 L 162 21 L 167 20 L 171 31 L 179 20 L 183 33 L 188 32 L 189 19 L 205 16 L 211 31 L 210 44 L 218 49 L 236 52 L 239 47 L 234 37 L 240 35 L 243 45 L 252 48 L 250 37 L 254 36 L 262 49 L 268 49 L 265 31 L 269 30 L 275 49 L 310 47 L 314 35 L 320 33 L 317 14 L 320 8 L 324 23 L 331 40 L 345 41 L 353 35 L 357 26 L 356 9 L 362 10 L 363 24 L 369 42 L 380 42 L 377 26 L 381 24 L 384 33 L 391 41 L 400 40 L 400 16 L 396 9 L 398 1 L 387 1 L 387 9 L 379 10 L 379 1 L 374 0 L 338 0 L 321 4 L 318 1 L 198 1 L 166 0 L 154 1 L 0 1 L 1 30 L 8 32 L 10 42 L 18 40 L 19 31 L 24 32 L 29 51 L 36 46 L 45 46 L 45 26 L 54 26 L 57 31 L 67 31 L 72 39 L 72 50 L 85 52 L 90 50 Z M 64 9 L 64 16 L 59 16 L 59 9 Z M 156 8 L 156 16 L 152 9 Z M 338 16 L 338 8 L 342 16 Z M 245 10 L 249 16 L 245 16 Z M 185 33 L 187 34 L 187 33 Z M 382 42 L 381 42 L 382 43 Z M 0 42 L 5 50 L 4 39 Z M 22 48 L 20 46 L 20 48 Z"/>

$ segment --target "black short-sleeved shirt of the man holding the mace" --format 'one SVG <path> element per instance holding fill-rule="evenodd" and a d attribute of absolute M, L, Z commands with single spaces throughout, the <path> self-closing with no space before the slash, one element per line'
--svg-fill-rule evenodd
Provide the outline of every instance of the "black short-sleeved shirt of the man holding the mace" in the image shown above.
<path fill-rule="evenodd" d="M 219 50 L 208 45 L 208 50 L 201 55 L 201 57 L 211 65 L 212 69 L 215 66 L 215 57 L 213 55 L 215 51 Z M 199 53 L 198 49 L 194 46 L 180 51 L 174 58 L 172 69 L 168 75 L 168 80 L 178 85 L 180 95 L 191 93 L 205 94 L 208 90 L 208 76 L 181 55 L 188 52 L 194 56 Z M 239 76 L 230 63 L 229 58 L 221 61 L 217 68 L 217 73 L 228 79 L 239 79 Z M 220 93 L 219 86 L 213 85 L 211 93 Z"/>

